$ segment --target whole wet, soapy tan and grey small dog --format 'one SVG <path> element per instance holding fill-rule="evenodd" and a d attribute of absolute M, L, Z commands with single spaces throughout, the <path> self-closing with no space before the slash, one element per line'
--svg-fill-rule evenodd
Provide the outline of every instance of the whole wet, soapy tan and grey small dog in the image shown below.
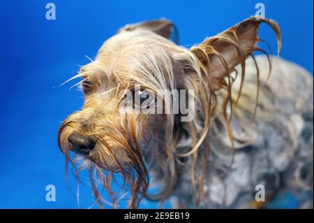
<path fill-rule="evenodd" d="M 101 208 L 101 188 L 114 208 L 126 197 L 129 208 L 143 198 L 170 198 L 173 208 L 261 208 L 287 192 L 299 208 L 313 206 L 313 78 L 257 47 L 262 23 L 279 55 L 281 30 L 267 18 L 250 17 L 189 50 L 177 45 L 170 20 L 128 24 L 68 80 L 82 79 L 84 106 L 61 124 L 59 148 L 77 175 L 89 171 Z M 156 99 L 143 105 L 144 91 L 182 89 L 192 120 L 166 112 L 172 94 L 157 96 L 160 113 L 135 112 L 157 109 Z M 129 195 L 112 189 L 117 174 Z"/>

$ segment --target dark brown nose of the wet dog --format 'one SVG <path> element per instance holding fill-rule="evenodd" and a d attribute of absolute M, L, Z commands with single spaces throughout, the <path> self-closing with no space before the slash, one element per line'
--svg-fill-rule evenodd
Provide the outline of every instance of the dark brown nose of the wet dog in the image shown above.
<path fill-rule="evenodd" d="M 72 133 L 68 136 L 68 141 L 74 148 L 77 154 L 89 154 L 95 148 L 96 141 L 89 136 Z"/>

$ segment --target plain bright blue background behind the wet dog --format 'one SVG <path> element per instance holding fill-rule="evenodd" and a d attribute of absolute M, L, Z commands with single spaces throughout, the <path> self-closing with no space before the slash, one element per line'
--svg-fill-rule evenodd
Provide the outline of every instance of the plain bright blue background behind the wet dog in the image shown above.
<path fill-rule="evenodd" d="M 167 17 L 180 45 L 200 43 L 255 14 L 259 1 L 52 1 L 57 20 L 46 20 L 50 1 L 0 1 L 0 208 L 77 208 L 75 180 L 66 185 L 57 147 L 62 120 L 82 106 L 82 94 L 59 86 L 94 58 L 100 45 L 124 24 Z M 263 0 L 266 17 L 283 33 L 281 56 L 313 73 L 313 1 Z M 274 34 L 262 27 L 276 52 Z M 45 200 L 55 185 L 57 201 Z M 87 187 L 82 208 L 93 199 Z M 156 203 L 144 201 L 142 208 Z M 289 207 L 289 206 L 288 206 Z M 293 207 L 293 205 L 292 205 Z"/>

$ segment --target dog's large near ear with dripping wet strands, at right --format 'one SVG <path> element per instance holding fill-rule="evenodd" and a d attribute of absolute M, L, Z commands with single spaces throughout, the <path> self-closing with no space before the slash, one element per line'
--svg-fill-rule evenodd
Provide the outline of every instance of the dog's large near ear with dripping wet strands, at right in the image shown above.
<path fill-rule="evenodd" d="M 258 49 L 257 32 L 262 22 L 266 22 L 274 29 L 279 54 L 281 31 L 275 22 L 261 17 L 248 18 L 190 49 L 199 59 L 201 66 L 210 73 L 212 89 L 220 89 L 225 85 L 224 78 L 234 70 L 234 66 L 241 64 L 242 68 L 245 67 L 246 57 Z"/>

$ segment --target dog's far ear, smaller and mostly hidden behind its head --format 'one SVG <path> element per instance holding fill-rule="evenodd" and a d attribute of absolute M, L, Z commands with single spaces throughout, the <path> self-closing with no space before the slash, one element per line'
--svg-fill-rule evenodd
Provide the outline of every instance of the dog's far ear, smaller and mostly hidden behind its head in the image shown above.
<path fill-rule="evenodd" d="M 171 38 L 172 32 L 177 32 L 176 27 L 170 20 L 160 19 L 160 20 L 151 20 L 147 22 L 137 22 L 134 24 L 126 24 L 126 26 L 119 29 L 117 33 L 120 34 L 124 31 L 133 31 L 133 30 L 140 30 L 140 29 L 153 31 L 155 34 L 158 34 L 165 38 Z"/>

